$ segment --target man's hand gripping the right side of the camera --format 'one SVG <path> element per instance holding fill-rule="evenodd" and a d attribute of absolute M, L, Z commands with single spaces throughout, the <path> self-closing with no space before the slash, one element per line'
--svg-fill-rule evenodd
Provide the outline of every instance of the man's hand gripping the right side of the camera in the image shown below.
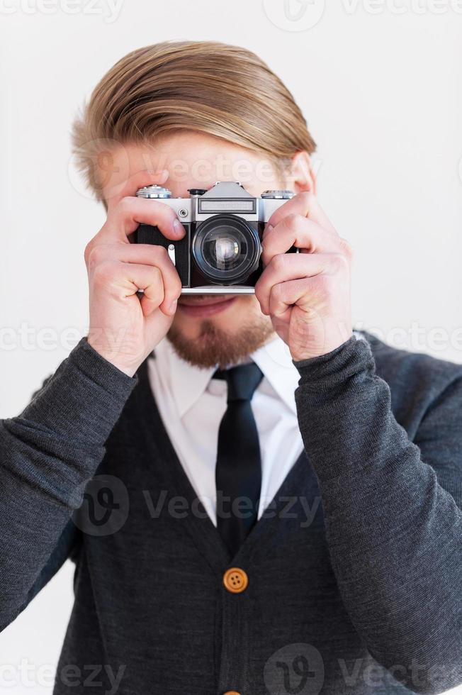
<path fill-rule="evenodd" d="M 298 253 L 287 253 L 295 246 Z M 326 355 L 351 338 L 351 247 L 314 194 L 283 204 L 262 239 L 255 294 L 293 360 Z"/>

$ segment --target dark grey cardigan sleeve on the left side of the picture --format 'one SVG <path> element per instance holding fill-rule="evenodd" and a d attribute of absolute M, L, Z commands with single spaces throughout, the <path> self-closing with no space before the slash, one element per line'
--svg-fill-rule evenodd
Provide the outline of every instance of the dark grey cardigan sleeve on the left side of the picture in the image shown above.
<path fill-rule="evenodd" d="M 20 416 L 0 421 L 0 630 L 76 547 L 72 513 L 136 382 L 83 339 Z"/>

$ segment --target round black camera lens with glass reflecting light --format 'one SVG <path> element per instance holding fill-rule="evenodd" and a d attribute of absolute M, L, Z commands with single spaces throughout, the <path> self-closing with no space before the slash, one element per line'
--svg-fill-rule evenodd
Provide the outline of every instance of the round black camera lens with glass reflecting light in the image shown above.
<path fill-rule="evenodd" d="M 215 284 L 244 282 L 258 267 L 260 240 L 239 217 L 215 215 L 198 227 L 193 257 L 201 272 Z"/>

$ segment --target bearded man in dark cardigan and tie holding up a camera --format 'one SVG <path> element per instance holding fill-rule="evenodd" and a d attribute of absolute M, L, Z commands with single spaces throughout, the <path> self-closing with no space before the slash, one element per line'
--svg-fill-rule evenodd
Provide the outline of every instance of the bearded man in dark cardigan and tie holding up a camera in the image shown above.
<path fill-rule="evenodd" d="M 2 423 L 1 627 L 72 557 L 58 695 L 461 683 L 462 367 L 352 333 L 351 250 L 286 87 L 240 48 L 147 47 L 74 144 L 108 217 L 89 335 Z M 135 193 L 237 170 L 255 196 L 295 192 L 255 294 L 181 294 L 165 250 L 130 244 L 181 221 Z"/>

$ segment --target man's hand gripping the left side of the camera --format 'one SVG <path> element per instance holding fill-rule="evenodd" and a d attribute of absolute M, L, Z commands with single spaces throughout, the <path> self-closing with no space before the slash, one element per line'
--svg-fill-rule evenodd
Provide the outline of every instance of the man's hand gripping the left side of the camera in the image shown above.
<path fill-rule="evenodd" d="M 171 240 L 184 237 L 184 226 L 169 206 L 135 197 L 138 188 L 163 184 L 167 177 L 165 171 L 132 177 L 125 196 L 109 201 L 106 223 L 85 250 L 89 345 L 130 377 L 167 334 L 181 293 L 181 280 L 167 250 L 131 244 L 129 238 L 140 223 L 158 227 Z"/>

